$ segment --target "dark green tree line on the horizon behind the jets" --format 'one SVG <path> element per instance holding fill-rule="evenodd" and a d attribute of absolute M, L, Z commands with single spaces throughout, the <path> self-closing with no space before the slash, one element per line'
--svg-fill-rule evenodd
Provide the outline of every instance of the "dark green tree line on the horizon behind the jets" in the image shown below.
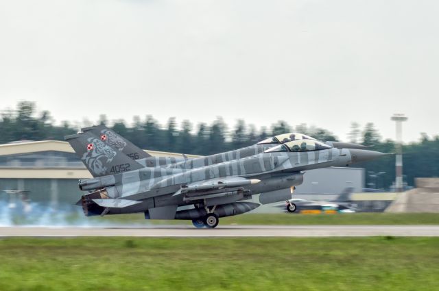
<path fill-rule="evenodd" d="M 86 122 L 88 123 L 88 122 Z M 145 118 L 135 116 L 131 125 L 126 121 L 109 123 L 106 116 L 99 116 L 98 124 L 104 124 L 117 131 L 121 136 L 143 149 L 169 151 L 195 155 L 210 155 L 231 149 L 239 149 L 255 144 L 270 136 L 287 132 L 300 132 L 322 141 L 337 141 L 329 130 L 309 127 L 306 124 L 291 126 L 286 121 L 278 121 L 270 127 L 257 129 L 238 120 L 228 127 L 218 117 L 212 123 L 193 125 L 190 121 L 178 124 L 171 117 L 165 125 L 158 123 L 152 115 Z M 84 124 L 88 126 L 92 124 Z M 55 125 L 50 113 L 37 112 L 35 103 L 21 101 L 14 110 L 3 110 L 0 116 L 0 144 L 19 140 L 64 140 L 64 136 L 75 134 L 80 125 L 63 121 Z M 361 129 L 352 123 L 349 138 L 351 142 L 370 145 L 371 150 L 384 153 L 394 152 L 393 140 L 382 140 L 373 123 Z M 404 175 L 407 184 L 414 185 L 415 177 L 437 177 L 439 173 L 439 137 L 429 138 L 421 135 L 419 142 L 403 146 Z M 395 178 L 394 156 L 358 164 L 366 168 L 366 184 L 377 188 L 388 188 Z M 385 172 L 385 174 L 384 174 Z M 379 175 L 374 175 L 380 173 Z"/>

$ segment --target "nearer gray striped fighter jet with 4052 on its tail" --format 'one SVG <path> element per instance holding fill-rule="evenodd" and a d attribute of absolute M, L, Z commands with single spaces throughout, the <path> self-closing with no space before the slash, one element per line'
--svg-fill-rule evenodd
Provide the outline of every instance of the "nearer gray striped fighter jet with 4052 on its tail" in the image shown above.
<path fill-rule="evenodd" d="M 145 218 L 192 220 L 195 227 L 211 228 L 219 217 L 258 207 L 246 201 L 253 194 L 261 193 L 263 204 L 291 198 L 290 188 L 302 183 L 304 170 L 385 155 L 306 138 L 199 168 L 163 168 L 145 167 L 90 132 L 66 140 L 95 177 L 80 180 L 80 189 L 91 191 L 78 201 L 86 216 L 144 212 Z"/>

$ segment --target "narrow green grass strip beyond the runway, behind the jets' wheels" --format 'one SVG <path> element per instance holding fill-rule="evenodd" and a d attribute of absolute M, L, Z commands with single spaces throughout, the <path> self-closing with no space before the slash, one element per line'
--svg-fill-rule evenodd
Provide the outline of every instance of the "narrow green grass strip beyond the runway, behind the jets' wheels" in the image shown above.
<path fill-rule="evenodd" d="M 143 214 L 87 218 L 91 223 L 187 224 L 179 220 L 146 220 Z M 244 214 L 220 218 L 219 225 L 439 225 L 439 213 Z"/>

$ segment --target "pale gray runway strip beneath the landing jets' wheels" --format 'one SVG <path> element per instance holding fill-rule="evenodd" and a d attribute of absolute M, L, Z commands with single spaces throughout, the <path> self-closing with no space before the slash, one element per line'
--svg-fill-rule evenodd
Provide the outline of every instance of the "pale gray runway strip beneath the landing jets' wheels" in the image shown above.
<path fill-rule="evenodd" d="M 0 237 L 361 237 L 439 236 L 439 225 L 294 225 L 224 226 L 195 229 L 187 226 L 149 227 L 0 227 Z"/>

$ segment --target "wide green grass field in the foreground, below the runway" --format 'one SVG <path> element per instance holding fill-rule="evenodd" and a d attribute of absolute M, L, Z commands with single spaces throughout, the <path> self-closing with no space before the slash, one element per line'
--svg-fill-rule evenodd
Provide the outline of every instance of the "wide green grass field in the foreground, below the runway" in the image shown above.
<path fill-rule="evenodd" d="M 0 290 L 439 290 L 439 238 L 8 238 Z"/>

